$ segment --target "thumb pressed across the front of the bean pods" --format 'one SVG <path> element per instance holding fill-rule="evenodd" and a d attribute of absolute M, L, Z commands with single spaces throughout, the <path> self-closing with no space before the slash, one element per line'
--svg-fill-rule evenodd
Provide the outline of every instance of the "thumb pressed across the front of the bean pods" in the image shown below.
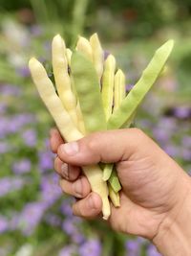
<path fill-rule="evenodd" d="M 115 163 L 129 159 L 140 148 L 142 138 L 147 136 L 138 128 L 101 131 L 62 144 L 57 154 L 62 161 L 77 166 Z"/>

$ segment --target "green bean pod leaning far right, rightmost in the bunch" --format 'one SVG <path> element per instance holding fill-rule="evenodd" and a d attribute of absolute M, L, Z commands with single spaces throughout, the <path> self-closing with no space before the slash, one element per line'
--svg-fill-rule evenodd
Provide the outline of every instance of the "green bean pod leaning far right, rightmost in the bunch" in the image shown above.
<path fill-rule="evenodd" d="M 148 66 L 143 71 L 142 76 L 136 85 L 108 120 L 108 129 L 121 128 L 132 116 L 149 89 L 158 79 L 165 62 L 173 49 L 173 46 L 174 41 L 168 40 L 161 47 L 159 47 Z"/>

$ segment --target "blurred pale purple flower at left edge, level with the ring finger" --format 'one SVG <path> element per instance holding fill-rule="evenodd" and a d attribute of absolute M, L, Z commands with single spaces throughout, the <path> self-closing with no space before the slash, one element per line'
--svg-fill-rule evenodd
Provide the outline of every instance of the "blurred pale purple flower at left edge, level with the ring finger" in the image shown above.
<path fill-rule="evenodd" d="M 3 177 L 0 179 L 0 198 L 12 191 L 21 189 L 26 184 L 26 180 L 19 177 Z"/>

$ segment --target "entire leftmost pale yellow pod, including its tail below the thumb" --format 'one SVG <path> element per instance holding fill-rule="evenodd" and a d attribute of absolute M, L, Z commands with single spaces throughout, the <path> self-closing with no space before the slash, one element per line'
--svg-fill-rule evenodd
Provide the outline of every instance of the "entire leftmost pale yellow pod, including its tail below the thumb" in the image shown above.
<path fill-rule="evenodd" d="M 49 79 L 43 65 L 35 58 L 31 58 L 29 62 L 32 80 L 44 104 L 53 116 L 57 128 L 62 136 L 68 141 L 78 140 L 83 134 L 74 127 L 66 108 L 62 105 L 61 100 L 57 96 L 53 82 Z M 110 216 L 110 203 L 108 199 L 107 183 L 102 180 L 102 170 L 98 165 L 82 167 L 82 170 L 91 184 L 92 191 L 96 192 L 102 199 L 103 219 L 107 220 Z"/>

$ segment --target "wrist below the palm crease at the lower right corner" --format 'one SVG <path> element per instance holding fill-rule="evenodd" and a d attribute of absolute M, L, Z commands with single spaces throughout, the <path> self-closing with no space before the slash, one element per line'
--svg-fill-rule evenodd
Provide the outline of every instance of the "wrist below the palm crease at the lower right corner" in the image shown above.
<path fill-rule="evenodd" d="M 179 200 L 159 225 L 153 243 L 164 256 L 189 256 L 191 253 L 191 179 L 184 176 Z"/>

